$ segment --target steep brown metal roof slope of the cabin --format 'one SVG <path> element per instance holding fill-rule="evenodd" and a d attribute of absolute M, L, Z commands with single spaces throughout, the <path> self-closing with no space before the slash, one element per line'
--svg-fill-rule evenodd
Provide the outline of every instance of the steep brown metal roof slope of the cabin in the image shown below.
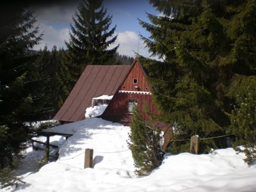
<path fill-rule="evenodd" d="M 92 106 L 92 98 L 114 95 L 130 68 L 131 65 L 88 65 L 53 119 L 83 120 L 85 109 Z"/>

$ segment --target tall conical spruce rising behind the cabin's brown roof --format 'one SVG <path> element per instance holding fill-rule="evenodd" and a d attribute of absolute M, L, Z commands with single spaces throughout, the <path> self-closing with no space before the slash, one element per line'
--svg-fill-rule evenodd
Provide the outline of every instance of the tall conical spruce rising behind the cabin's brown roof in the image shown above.
<path fill-rule="evenodd" d="M 70 40 L 62 61 L 61 83 L 66 95 L 70 92 L 86 65 L 111 64 L 118 46 L 109 49 L 117 36 L 116 27 L 109 30 L 111 16 L 102 6 L 102 0 L 83 0 L 70 25 Z"/>

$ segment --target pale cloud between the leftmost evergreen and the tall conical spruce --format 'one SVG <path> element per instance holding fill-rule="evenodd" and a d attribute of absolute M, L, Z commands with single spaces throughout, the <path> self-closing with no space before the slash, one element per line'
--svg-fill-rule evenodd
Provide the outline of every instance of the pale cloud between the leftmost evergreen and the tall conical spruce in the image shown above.
<path fill-rule="evenodd" d="M 45 45 L 47 45 L 48 49 L 52 49 L 54 45 L 56 47 L 65 47 L 65 40 L 69 39 L 69 29 L 55 29 L 52 26 L 46 24 L 40 24 L 39 26 L 40 31 L 44 31 L 44 36 L 42 37 L 43 40 L 40 42 L 39 45 L 34 47 L 35 50 L 43 49 Z"/>

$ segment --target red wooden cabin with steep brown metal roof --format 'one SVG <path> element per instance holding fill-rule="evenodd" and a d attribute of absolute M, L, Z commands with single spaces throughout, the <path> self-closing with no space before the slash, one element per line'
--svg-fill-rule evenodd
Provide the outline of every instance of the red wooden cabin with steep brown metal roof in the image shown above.
<path fill-rule="evenodd" d="M 144 120 L 148 119 L 143 111 L 144 104 L 154 115 L 159 114 L 145 71 L 136 59 L 132 65 L 88 65 L 54 119 L 64 124 L 83 120 L 85 109 L 92 106 L 92 100 L 100 95 L 113 95 L 100 115 L 106 120 L 130 124 L 134 105 L 138 106 Z M 160 127 L 164 139 L 168 140 L 170 127 L 164 124 Z"/>

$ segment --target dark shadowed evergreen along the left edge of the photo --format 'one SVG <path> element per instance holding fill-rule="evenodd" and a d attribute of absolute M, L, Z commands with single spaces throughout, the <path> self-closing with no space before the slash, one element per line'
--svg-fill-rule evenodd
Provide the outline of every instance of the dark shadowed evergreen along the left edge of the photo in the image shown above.
<path fill-rule="evenodd" d="M 33 28 L 32 12 L 17 8 L 0 28 L 0 167 L 12 166 L 28 140 L 28 122 L 40 118 L 44 108 L 38 92 L 36 54 L 29 49 L 38 44 L 38 28 Z"/>

